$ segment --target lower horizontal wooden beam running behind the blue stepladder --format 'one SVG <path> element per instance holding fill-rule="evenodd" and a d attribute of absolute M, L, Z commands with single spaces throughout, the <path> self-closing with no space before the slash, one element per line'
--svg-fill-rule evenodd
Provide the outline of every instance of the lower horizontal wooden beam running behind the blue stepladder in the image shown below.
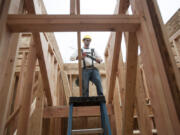
<path fill-rule="evenodd" d="M 111 104 L 107 106 L 108 114 L 113 114 L 113 107 Z M 60 106 L 60 107 L 46 107 L 44 108 L 44 118 L 62 118 L 68 117 L 69 107 L 68 106 Z M 74 107 L 73 108 L 73 117 L 81 117 L 81 116 L 100 116 L 100 107 L 99 106 L 91 106 L 91 107 Z"/>

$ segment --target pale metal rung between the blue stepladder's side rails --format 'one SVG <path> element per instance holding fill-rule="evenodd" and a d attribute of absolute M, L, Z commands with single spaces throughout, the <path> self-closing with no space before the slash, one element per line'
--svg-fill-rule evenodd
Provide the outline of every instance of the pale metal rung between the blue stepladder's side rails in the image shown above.
<path fill-rule="evenodd" d="M 92 128 L 92 129 L 76 129 L 72 130 L 72 135 L 81 135 L 81 134 L 96 134 L 96 133 L 103 133 L 102 128 Z"/>

